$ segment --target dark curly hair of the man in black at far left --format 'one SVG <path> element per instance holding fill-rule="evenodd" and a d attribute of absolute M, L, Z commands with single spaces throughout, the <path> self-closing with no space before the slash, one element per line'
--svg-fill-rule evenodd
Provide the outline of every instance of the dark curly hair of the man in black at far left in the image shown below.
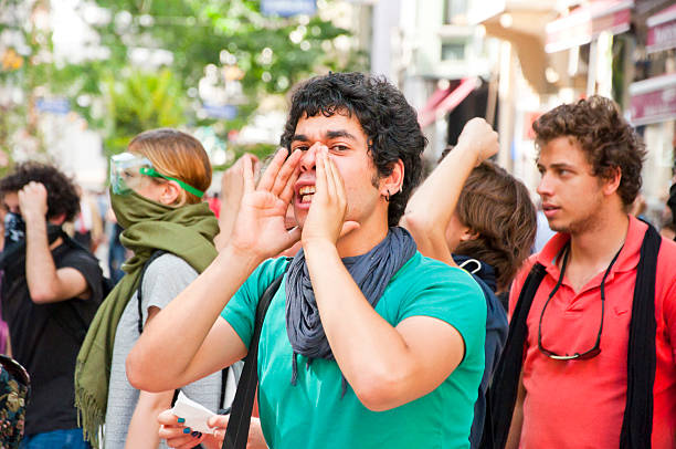
<path fill-rule="evenodd" d="M 0 179 L 0 198 L 7 194 L 18 192 L 29 184 L 36 181 L 44 185 L 47 191 L 47 219 L 65 216 L 72 221 L 80 211 L 80 196 L 71 178 L 52 165 L 28 161 L 19 164 L 14 170 Z"/>

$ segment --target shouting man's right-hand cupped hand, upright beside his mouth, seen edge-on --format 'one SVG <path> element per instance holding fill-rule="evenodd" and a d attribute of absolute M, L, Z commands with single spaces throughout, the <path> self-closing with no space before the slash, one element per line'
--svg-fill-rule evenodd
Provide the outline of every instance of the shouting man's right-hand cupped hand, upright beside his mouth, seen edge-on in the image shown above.
<path fill-rule="evenodd" d="M 328 148 L 319 145 L 315 150 L 317 152 L 315 195 L 303 224 L 303 244 L 315 241 L 335 244 L 341 236 L 357 229 L 359 224 L 355 221 L 345 221 L 348 206 L 345 185 L 328 156 Z"/>

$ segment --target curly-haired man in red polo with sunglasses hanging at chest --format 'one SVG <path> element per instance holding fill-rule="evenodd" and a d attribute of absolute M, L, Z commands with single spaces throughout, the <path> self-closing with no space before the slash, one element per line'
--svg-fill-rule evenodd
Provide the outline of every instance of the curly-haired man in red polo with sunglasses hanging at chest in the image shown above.
<path fill-rule="evenodd" d="M 637 275 L 642 259 L 648 259 L 641 249 L 649 232 L 626 213 L 641 188 L 645 149 L 614 103 L 599 96 L 556 107 L 534 129 L 538 194 L 558 233 L 529 259 L 510 293 L 510 338 L 518 334 L 518 316 L 525 336 L 522 353 L 519 347 L 513 361 L 503 363 L 514 363 L 511 374 L 520 378 L 514 384 L 518 391 L 507 447 L 674 448 L 676 244 L 655 237 L 656 269 Z M 535 264 L 543 272 L 524 313 L 528 294 L 521 291 Z M 651 271 L 654 281 L 636 286 Z M 654 294 L 644 292 L 646 285 L 654 285 Z M 634 297 L 649 307 L 654 301 L 654 313 L 649 309 L 642 321 Z M 641 336 L 651 344 L 632 353 L 632 342 Z M 652 356 L 653 368 L 637 366 L 642 356 Z M 503 376 L 509 377 L 506 369 Z M 494 387 L 501 382 L 496 377 Z M 644 395 L 636 394 L 641 388 Z"/>

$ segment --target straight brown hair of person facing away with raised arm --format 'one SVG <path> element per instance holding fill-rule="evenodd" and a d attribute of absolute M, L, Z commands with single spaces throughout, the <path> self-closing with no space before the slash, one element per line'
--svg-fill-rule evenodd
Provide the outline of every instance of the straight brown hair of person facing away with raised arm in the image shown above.
<path fill-rule="evenodd" d="M 462 241 L 453 253 L 490 264 L 497 291 L 507 290 L 536 238 L 536 208 L 526 186 L 486 160 L 467 177 L 455 213 L 478 237 Z"/>

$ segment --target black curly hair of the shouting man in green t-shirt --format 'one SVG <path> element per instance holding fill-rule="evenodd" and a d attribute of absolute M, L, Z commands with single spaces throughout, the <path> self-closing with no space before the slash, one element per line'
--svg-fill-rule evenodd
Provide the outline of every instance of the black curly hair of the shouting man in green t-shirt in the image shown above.
<path fill-rule="evenodd" d="M 362 73 L 329 73 L 298 85 L 292 96 L 291 112 L 281 144 L 291 150 L 298 121 L 324 114 L 352 114 L 368 137 L 368 150 L 380 177 L 392 173 L 401 159 L 404 180 L 401 192 L 390 197 L 389 226 L 397 226 L 411 191 L 420 184 L 422 152 L 427 144 L 418 123 L 415 109 L 403 94 L 384 77 Z M 377 186 L 378 179 L 373 180 Z"/>

